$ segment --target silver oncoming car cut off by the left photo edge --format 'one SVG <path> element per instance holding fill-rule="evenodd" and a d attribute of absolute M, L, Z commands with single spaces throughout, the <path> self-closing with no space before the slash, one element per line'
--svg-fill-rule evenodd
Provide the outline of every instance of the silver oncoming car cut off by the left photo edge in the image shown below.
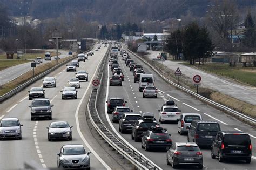
<path fill-rule="evenodd" d="M 18 118 L 3 118 L 0 124 L 0 139 L 22 139 L 21 125 Z"/>

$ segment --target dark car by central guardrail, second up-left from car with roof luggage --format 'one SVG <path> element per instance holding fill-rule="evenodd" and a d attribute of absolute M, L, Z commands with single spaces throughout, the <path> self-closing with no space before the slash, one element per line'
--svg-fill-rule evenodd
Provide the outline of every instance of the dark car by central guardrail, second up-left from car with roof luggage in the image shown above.
<path fill-rule="evenodd" d="M 119 132 L 131 132 L 135 121 L 141 117 L 140 113 L 124 113 L 119 120 Z"/>

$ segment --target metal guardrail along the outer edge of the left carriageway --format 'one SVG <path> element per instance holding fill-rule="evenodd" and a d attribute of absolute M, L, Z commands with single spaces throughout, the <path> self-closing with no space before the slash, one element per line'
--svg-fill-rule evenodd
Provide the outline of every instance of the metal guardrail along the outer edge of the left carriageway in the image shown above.
<path fill-rule="evenodd" d="M 94 46 L 92 46 L 89 50 L 87 50 L 87 51 L 85 51 L 85 52 L 88 52 L 88 51 L 92 50 L 93 47 L 94 47 Z M 84 52 L 84 53 L 85 53 L 85 52 Z M 52 72 L 53 70 L 55 70 L 55 69 L 57 69 L 58 67 L 60 67 L 60 66 L 62 66 L 62 65 L 64 65 L 64 64 L 70 62 L 71 60 L 73 60 L 73 59 L 76 58 L 76 57 L 77 57 L 77 56 L 73 56 L 72 58 L 67 59 L 67 60 L 65 60 L 64 62 L 59 63 L 59 64 L 57 64 L 56 66 L 53 66 L 51 69 L 46 70 L 45 72 L 43 72 L 43 73 L 39 74 L 38 76 L 36 76 L 36 77 L 34 77 L 34 78 L 32 78 L 32 79 L 26 81 L 25 83 L 23 83 L 22 85 L 16 87 L 15 89 L 12 89 L 11 91 L 9 91 L 9 92 L 3 94 L 2 96 L 0 96 L 0 102 L 2 102 L 2 101 L 4 101 L 4 100 L 6 100 L 6 99 L 8 99 L 8 98 L 10 98 L 10 97 L 12 97 L 12 96 L 14 96 L 14 94 L 16 94 L 16 93 L 18 93 L 19 91 L 23 90 L 23 89 L 24 89 L 25 87 L 27 87 L 28 85 L 30 85 L 30 84 L 34 83 L 35 81 L 41 79 L 41 78 L 44 77 L 46 74 L 49 74 L 49 73 Z"/>

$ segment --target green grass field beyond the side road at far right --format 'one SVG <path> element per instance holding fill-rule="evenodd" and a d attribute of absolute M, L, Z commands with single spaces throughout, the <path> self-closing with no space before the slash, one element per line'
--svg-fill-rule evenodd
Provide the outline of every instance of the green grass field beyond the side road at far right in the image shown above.
<path fill-rule="evenodd" d="M 189 65 L 188 63 L 180 64 L 193 67 L 193 65 Z M 209 73 L 217 74 L 218 76 L 228 77 L 241 83 L 256 87 L 256 67 L 230 67 L 228 64 L 219 63 L 206 63 L 204 65 L 196 64 L 195 67 Z"/>

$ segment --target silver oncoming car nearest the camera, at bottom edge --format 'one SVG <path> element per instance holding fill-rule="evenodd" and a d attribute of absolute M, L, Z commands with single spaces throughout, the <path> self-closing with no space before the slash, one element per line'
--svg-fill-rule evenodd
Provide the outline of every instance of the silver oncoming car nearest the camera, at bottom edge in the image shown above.
<path fill-rule="evenodd" d="M 90 169 L 90 154 L 83 145 L 63 145 L 57 153 L 58 168 L 62 169 Z"/>

